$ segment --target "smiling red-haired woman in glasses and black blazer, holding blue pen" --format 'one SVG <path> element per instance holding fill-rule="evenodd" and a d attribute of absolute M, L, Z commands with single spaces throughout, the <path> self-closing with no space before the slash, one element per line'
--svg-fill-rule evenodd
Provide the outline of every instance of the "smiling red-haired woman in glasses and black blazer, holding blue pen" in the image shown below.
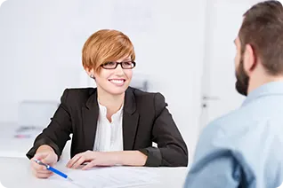
<path fill-rule="evenodd" d="M 160 93 L 129 87 L 133 44 L 116 30 L 100 30 L 83 48 L 83 66 L 97 88 L 66 89 L 52 121 L 28 151 L 49 165 L 59 161 L 73 134 L 68 168 L 187 166 L 188 151 Z M 152 147 L 152 142 L 158 148 Z M 52 174 L 31 161 L 35 176 Z"/>

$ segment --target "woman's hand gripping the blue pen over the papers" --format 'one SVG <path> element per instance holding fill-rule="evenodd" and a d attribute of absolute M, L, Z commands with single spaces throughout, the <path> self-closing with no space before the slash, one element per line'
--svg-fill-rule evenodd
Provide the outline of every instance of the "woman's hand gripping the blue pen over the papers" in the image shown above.
<path fill-rule="evenodd" d="M 50 166 L 54 166 L 57 162 L 57 154 L 53 151 L 48 152 L 37 152 L 35 156 L 31 159 L 31 170 L 34 176 L 38 178 L 48 178 L 53 175 L 53 172 L 48 170 L 43 165 L 39 165 L 34 161 L 34 159 L 42 161 L 45 164 L 48 164 Z"/>

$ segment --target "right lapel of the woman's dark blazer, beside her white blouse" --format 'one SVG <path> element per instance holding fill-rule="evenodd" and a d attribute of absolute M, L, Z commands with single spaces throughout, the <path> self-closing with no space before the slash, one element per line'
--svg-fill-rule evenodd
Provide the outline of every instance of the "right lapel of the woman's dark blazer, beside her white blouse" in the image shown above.
<path fill-rule="evenodd" d="M 140 115 L 136 112 L 136 103 L 131 88 L 125 91 L 123 111 L 123 144 L 124 150 L 133 150 L 135 134 Z"/>

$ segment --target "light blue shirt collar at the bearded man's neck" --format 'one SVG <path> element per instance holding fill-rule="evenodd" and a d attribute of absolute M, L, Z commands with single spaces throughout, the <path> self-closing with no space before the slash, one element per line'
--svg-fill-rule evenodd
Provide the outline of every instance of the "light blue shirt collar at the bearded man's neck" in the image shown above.
<path fill-rule="evenodd" d="M 247 105 L 255 98 L 269 95 L 283 95 L 283 82 L 268 82 L 251 91 L 245 99 L 243 106 Z"/>

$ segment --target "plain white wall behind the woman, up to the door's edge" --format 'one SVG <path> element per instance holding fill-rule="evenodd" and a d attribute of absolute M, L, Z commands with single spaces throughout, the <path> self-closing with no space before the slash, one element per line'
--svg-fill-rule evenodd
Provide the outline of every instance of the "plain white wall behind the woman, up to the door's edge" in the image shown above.
<path fill-rule="evenodd" d="M 127 8 L 126 8 L 127 7 Z M 99 28 L 129 35 L 136 73 L 166 96 L 190 150 L 198 137 L 205 0 L 0 1 L 0 121 L 17 121 L 21 100 L 58 100 L 84 86 L 81 49 Z"/>

